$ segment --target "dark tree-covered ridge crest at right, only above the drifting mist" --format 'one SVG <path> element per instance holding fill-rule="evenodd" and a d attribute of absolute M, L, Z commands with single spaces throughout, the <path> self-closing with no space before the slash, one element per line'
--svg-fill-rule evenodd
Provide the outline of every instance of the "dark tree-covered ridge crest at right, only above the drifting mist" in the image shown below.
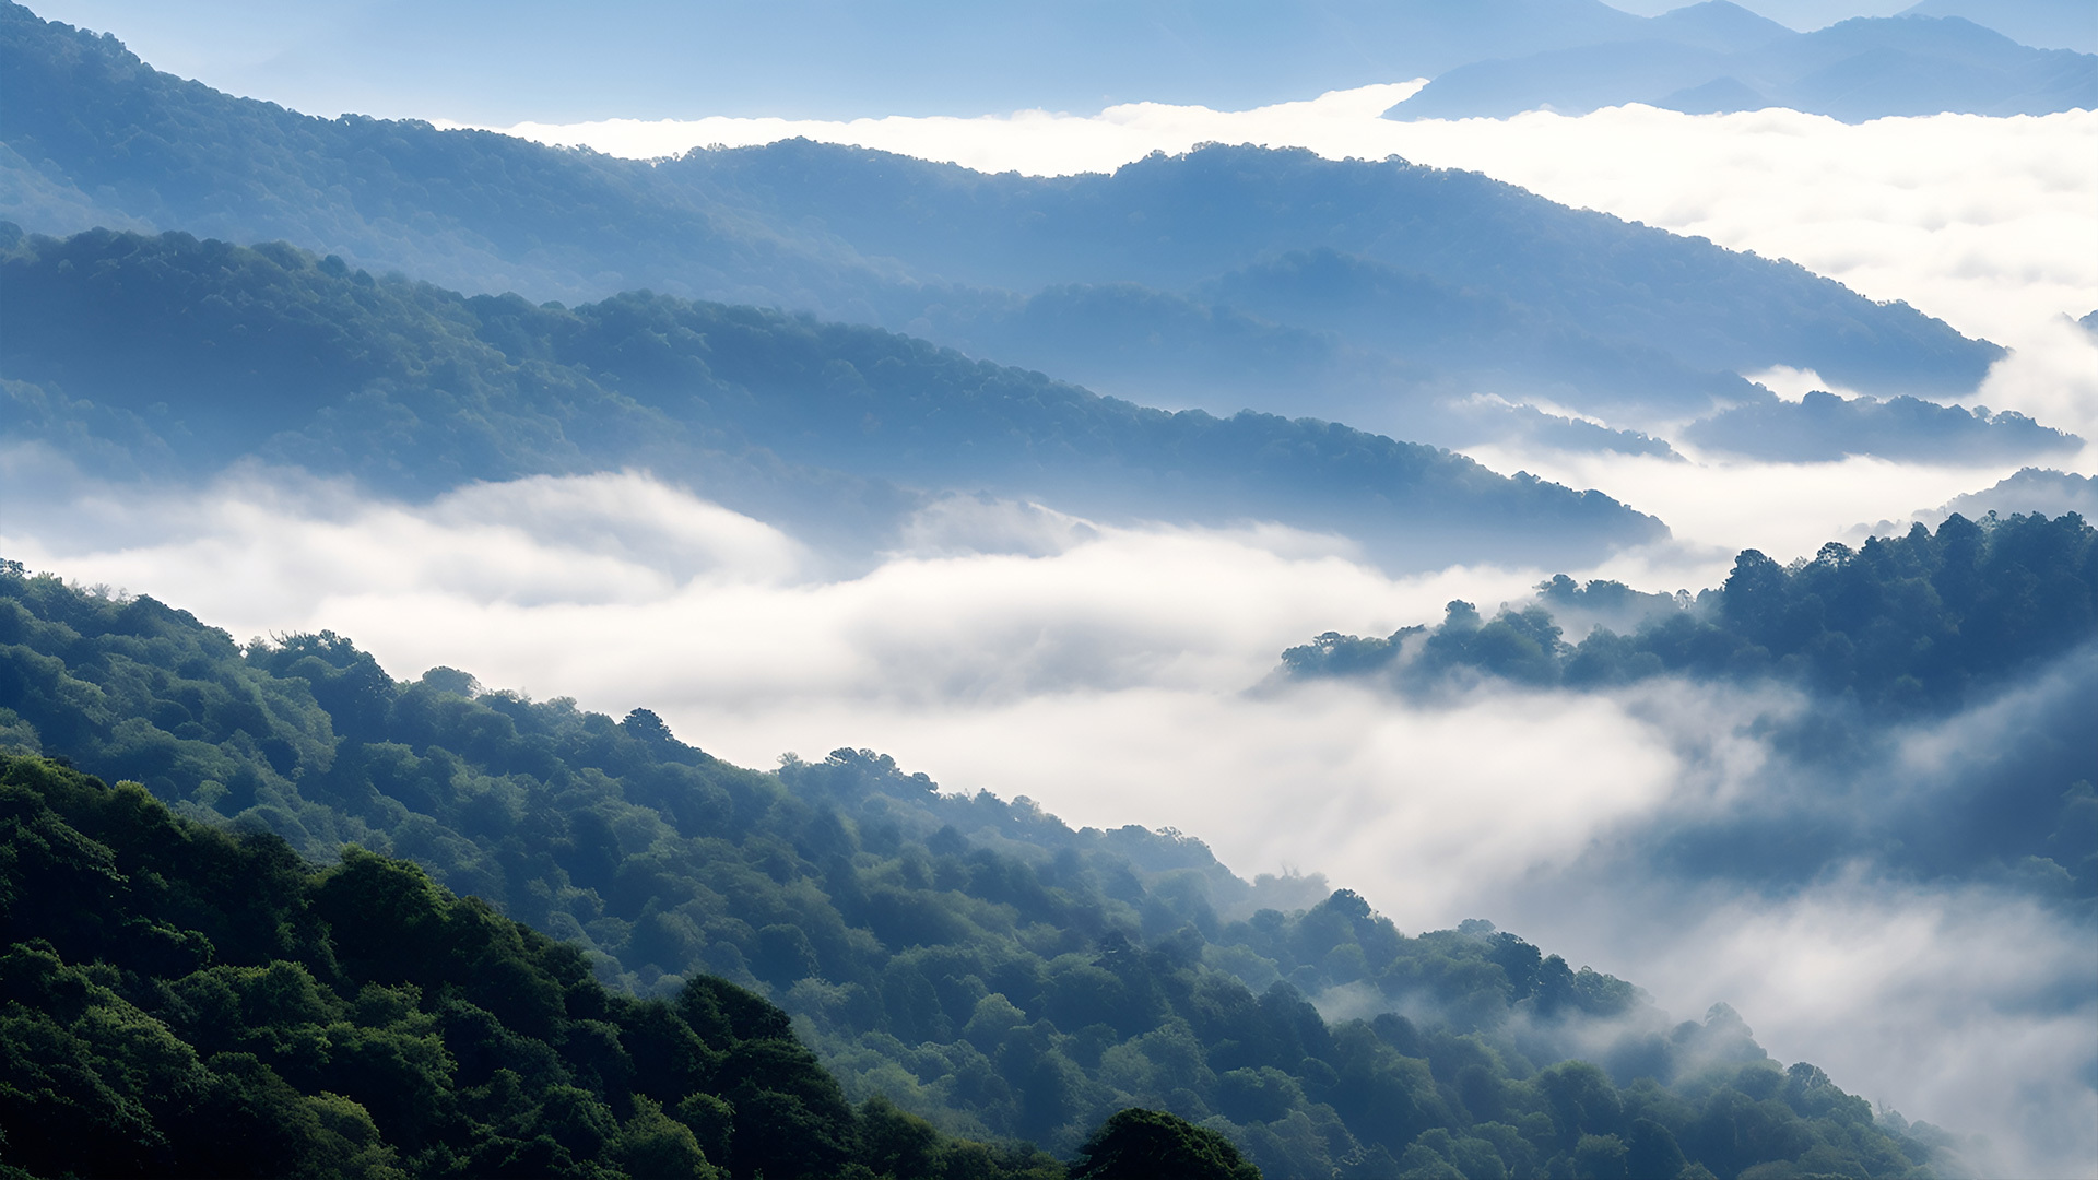
<path fill-rule="evenodd" d="M 1590 624 L 1567 642 L 1563 619 Z M 1628 634 L 1603 626 L 1615 621 Z M 1949 710 L 2098 636 L 2098 529 L 2067 512 L 1829 542 L 1779 565 L 1741 550 L 1727 584 L 1643 594 L 1555 575 L 1487 621 L 1450 603 L 1439 626 L 1385 638 L 1328 632 L 1282 653 L 1299 676 L 1475 670 L 1529 684 L 1609 687 L 1670 672 L 1781 678 L 1876 710 Z"/>

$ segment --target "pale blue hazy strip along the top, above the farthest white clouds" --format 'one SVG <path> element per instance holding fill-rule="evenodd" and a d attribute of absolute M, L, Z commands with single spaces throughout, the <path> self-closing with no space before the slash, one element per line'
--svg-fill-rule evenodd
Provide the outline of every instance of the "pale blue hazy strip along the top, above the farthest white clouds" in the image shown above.
<path fill-rule="evenodd" d="M 2098 10 L 2088 0 L 1926 2 L 1974 15 L 2016 10 L 2035 27 L 2060 25 L 2069 19 L 2062 13 L 2079 4 Z M 1555 21 L 1594 25 L 1611 15 L 1597 0 L 1508 0 L 1527 8 L 1498 27 L 1473 21 L 1469 34 L 1452 36 L 1452 25 L 1485 8 L 1471 4 L 31 0 L 42 17 L 113 31 L 149 63 L 235 94 L 319 115 L 359 111 L 493 126 L 621 115 L 973 115 L 1022 107 L 1093 113 L 1129 101 L 1244 109 L 1433 76 L 1502 57 L 1525 36 L 1550 36 Z M 1790 27 L 1815 29 L 1909 4 L 1756 0 L 1748 6 Z M 1655 15 L 1674 2 L 1615 6 Z M 1418 15 L 1433 25 L 1427 36 L 1418 21 L 1406 23 Z"/>

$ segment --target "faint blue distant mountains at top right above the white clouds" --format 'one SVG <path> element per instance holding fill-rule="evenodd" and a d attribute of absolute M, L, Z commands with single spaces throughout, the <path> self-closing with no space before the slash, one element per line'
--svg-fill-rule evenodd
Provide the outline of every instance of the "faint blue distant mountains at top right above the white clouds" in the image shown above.
<path fill-rule="evenodd" d="M 1798 34 L 1706 0 L 1653 17 L 1634 38 L 1460 65 L 1389 118 L 1580 115 L 1624 103 L 1689 113 L 1792 107 L 1844 122 L 2043 115 L 2098 107 L 2098 57 L 2029 48 L 1962 17 L 1859 17 Z"/>

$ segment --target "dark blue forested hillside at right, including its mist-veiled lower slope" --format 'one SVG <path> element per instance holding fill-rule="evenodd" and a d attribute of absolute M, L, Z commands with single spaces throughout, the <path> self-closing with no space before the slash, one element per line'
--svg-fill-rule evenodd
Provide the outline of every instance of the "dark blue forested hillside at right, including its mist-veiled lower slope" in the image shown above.
<path fill-rule="evenodd" d="M 2094 655 L 2098 531 L 2075 512 L 1989 512 L 1855 550 L 1829 542 L 1790 565 L 1743 550 L 1725 586 L 1695 598 L 1559 575 L 1492 619 L 1450 603 L 1433 628 L 1326 632 L 1282 663 L 1292 676 L 1357 676 L 1404 693 L 1494 682 L 1636 691 L 1660 678 L 1777 691 L 1748 710 L 1748 731 L 1781 766 L 1771 789 L 1821 792 L 1798 804 L 1819 810 L 1813 821 L 1714 821 L 1685 842 L 1706 850 L 1708 869 L 1720 846 L 1727 863 L 1756 871 L 1811 871 L 1869 850 L 1903 871 L 1981 876 L 2092 918 Z M 1974 754 L 1924 768 L 1901 754 L 1903 741 L 1941 729 Z M 1926 775 L 1943 775 L 1926 802 L 1907 796 Z"/>

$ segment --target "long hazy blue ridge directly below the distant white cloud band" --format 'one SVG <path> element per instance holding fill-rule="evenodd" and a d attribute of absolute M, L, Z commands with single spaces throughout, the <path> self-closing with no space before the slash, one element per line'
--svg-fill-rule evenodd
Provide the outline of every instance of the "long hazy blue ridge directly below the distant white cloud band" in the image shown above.
<path fill-rule="evenodd" d="M 17 4 L 0 69 L 0 216 L 36 231 L 285 239 L 531 300 L 785 307 L 1217 412 L 1380 405 L 1380 428 L 1448 433 L 1433 407 L 1483 386 L 1639 424 L 1779 363 L 1960 393 L 2001 355 L 1790 262 L 1399 160 L 1204 147 L 1034 178 L 776 143 L 625 162 L 233 99 Z M 1345 321 L 1332 275 L 1276 269 L 1324 256 L 1387 313 Z"/>

